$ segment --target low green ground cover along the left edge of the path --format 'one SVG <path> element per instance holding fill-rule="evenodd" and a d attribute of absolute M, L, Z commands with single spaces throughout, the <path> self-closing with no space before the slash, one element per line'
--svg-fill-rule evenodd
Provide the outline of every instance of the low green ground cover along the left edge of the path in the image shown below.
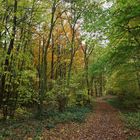
<path fill-rule="evenodd" d="M 48 111 L 41 120 L 30 118 L 28 120 L 9 120 L 0 122 L 0 140 L 27 139 L 31 136 L 34 140 L 39 139 L 44 129 L 54 128 L 58 123 L 84 122 L 90 107 L 69 107 L 64 112 Z"/>

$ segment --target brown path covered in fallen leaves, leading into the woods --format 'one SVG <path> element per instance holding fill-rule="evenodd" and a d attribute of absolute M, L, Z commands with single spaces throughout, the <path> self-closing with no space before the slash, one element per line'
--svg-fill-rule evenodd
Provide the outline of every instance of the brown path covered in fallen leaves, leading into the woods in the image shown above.
<path fill-rule="evenodd" d="M 59 124 L 55 129 L 45 130 L 45 140 L 126 140 L 119 111 L 102 98 L 97 99 L 95 112 L 89 114 L 85 123 Z"/>

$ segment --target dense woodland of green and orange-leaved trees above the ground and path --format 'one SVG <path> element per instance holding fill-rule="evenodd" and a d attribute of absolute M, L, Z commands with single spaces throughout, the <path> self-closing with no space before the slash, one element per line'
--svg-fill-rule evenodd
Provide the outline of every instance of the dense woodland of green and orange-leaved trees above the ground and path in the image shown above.
<path fill-rule="evenodd" d="M 140 109 L 139 0 L 0 0 L 0 118 L 94 106 Z"/>

